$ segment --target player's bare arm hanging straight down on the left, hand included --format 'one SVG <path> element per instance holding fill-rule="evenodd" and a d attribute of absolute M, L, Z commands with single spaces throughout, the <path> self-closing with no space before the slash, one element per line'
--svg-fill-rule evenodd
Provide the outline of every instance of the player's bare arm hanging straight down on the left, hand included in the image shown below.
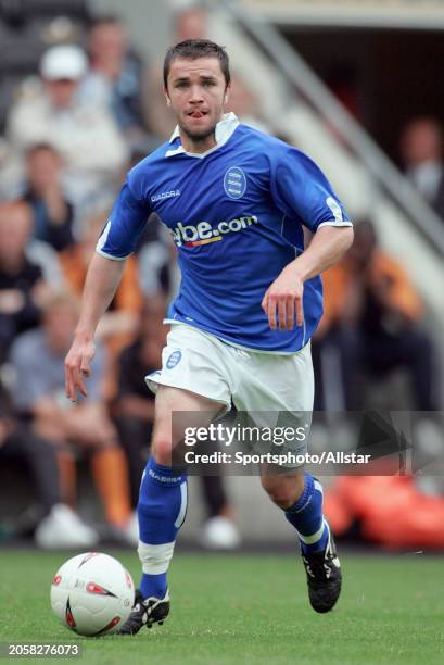
<path fill-rule="evenodd" d="M 96 328 L 114 298 L 124 267 L 125 261 L 113 261 L 100 254 L 94 254 L 89 264 L 80 318 L 65 359 L 65 389 L 69 400 L 76 400 L 77 390 L 87 396 L 84 377 L 91 372 Z"/>

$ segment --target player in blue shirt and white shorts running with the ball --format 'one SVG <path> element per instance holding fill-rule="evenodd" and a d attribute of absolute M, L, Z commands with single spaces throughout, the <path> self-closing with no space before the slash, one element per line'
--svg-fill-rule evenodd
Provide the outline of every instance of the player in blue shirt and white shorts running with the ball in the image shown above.
<path fill-rule="evenodd" d="M 66 356 L 66 393 L 86 394 L 93 334 L 113 298 L 125 259 L 157 213 L 178 248 L 180 292 L 156 389 L 152 456 L 139 515 L 140 590 L 120 633 L 162 623 L 166 574 L 187 507 L 187 476 L 172 464 L 183 439 L 173 412 L 313 410 L 309 339 L 322 313 L 319 273 L 350 247 L 353 229 L 328 180 L 305 154 L 224 114 L 228 57 L 207 40 L 187 40 L 165 57 L 166 103 L 178 126 L 169 142 L 134 167 L 100 236 Z M 313 233 L 304 249 L 303 226 Z M 290 447 L 291 448 L 291 447 Z M 301 452 L 301 443 L 294 442 Z M 289 469 L 287 469 L 288 472 Z M 265 491 L 296 530 L 308 594 L 328 612 L 341 568 L 322 516 L 322 488 L 303 468 L 262 470 Z"/>

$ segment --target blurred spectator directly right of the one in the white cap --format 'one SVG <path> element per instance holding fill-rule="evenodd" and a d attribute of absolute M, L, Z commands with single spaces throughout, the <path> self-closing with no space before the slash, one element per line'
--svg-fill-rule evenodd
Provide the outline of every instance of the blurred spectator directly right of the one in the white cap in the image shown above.
<path fill-rule="evenodd" d="M 87 101 L 106 105 L 131 145 L 143 139 L 141 111 L 142 64 L 129 49 L 125 26 L 115 16 L 93 21 L 88 36 L 90 66 L 80 85 Z"/>

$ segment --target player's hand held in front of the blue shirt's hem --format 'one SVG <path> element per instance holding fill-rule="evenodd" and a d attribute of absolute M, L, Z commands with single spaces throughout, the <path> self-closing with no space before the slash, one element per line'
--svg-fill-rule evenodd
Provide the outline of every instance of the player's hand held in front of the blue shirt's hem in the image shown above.
<path fill-rule="evenodd" d="M 292 330 L 304 323 L 304 283 L 292 269 L 284 268 L 265 292 L 262 309 L 271 330 Z"/>

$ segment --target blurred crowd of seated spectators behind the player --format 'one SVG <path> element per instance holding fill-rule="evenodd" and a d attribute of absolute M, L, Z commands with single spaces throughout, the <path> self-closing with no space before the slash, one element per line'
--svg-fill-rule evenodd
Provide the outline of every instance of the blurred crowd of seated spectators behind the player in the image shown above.
<path fill-rule="evenodd" d="M 204 11 L 178 13 L 174 32 L 173 41 L 206 36 Z M 2 118 L 0 462 L 3 469 L 14 459 L 28 467 L 39 504 L 38 545 L 91 548 L 102 536 L 76 510 L 77 467 L 85 460 L 103 505 L 105 537 L 132 543 L 153 418 L 143 376 L 160 365 L 162 321 L 179 281 L 175 248 L 158 219 L 147 225 L 100 324 L 88 400 L 73 405 L 65 398 L 63 360 L 88 262 L 125 173 L 167 140 L 175 123 L 164 105 L 160 63 L 138 57 L 119 18 L 88 17 L 83 29 L 62 38 L 53 33 L 47 30 L 34 73 L 16 81 Z M 229 110 L 268 130 L 236 72 Z M 413 121 L 402 155 L 408 177 L 444 215 L 437 122 Z M 330 391 L 341 394 L 343 409 L 364 409 L 363 377 L 404 368 L 411 406 L 437 410 L 439 369 L 420 298 L 405 267 L 380 250 L 371 221 L 357 225 L 356 238 L 325 279 L 326 314 L 314 339 L 317 407 L 329 407 Z M 331 386 L 333 356 L 341 371 Z M 202 492 L 204 544 L 238 545 L 224 479 L 202 478 Z"/>

